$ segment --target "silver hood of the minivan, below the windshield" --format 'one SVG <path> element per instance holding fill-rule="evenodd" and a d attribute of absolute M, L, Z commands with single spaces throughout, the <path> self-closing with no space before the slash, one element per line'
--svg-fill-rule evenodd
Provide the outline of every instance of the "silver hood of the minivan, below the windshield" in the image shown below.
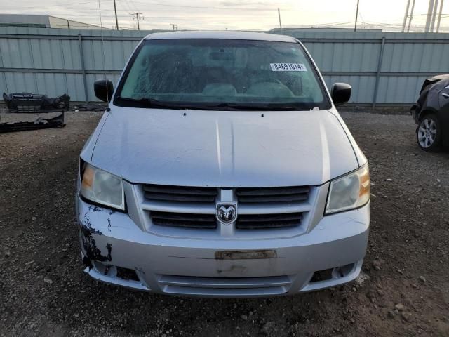
<path fill-rule="evenodd" d="M 347 134 L 328 111 L 112 107 L 107 114 L 91 162 L 131 183 L 320 185 L 358 168 Z"/>

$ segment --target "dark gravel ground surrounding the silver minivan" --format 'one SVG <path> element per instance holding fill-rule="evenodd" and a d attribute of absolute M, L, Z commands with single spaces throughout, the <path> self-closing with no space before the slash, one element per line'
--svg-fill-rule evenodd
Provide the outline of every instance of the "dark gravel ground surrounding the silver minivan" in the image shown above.
<path fill-rule="evenodd" d="M 74 179 L 100 115 L 0 135 L 1 336 L 449 336 L 449 154 L 419 150 L 410 116 L 342 114 L 373 181 L 356 282 L 220 300 L 128 291 L 82 272 Z"/>

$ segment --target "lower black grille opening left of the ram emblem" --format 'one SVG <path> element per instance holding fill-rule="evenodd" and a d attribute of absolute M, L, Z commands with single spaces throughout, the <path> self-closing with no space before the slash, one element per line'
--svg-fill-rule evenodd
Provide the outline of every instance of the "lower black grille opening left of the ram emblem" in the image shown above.
<path fill-rule="evenodd" d="M 217 227 L 215 215 L 213 214 L 191 214 L 150 211 L 154 225 L 167 227 L 189 227 L 213 229 Z"/>

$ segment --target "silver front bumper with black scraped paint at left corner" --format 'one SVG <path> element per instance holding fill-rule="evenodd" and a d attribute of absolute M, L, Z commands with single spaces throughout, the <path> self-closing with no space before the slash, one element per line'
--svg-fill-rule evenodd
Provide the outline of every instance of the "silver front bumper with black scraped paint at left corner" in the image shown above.
<path fill-rule="evenodd" d="M 186 296 L 281 296 L 354 280 L 366 253 L 369 204 L 325 216 L 308 233 L 281 239 L 186 239 L 144 232 L 126 213 L 76 198 L 86 272 L 131 289 Z M 263 258 L 217 251 L 267 250 Z M 248 254 L 249 256 L 251 254 Z M 253 256 L 254 257 L 254 256 Z M 326 279 L 317 275 L 326 270 Z M 123 276 L 124 275 L 124 276 Z"/>

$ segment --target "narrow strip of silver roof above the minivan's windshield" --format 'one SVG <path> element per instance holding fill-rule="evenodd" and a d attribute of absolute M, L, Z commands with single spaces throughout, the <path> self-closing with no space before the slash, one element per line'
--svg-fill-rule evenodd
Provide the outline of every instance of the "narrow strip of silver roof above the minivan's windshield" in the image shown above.
<path fill-rule="evenodd" d="M 147 40 L 164 40 L 164 39 L 233 39 L 233 40 L 260 40 L 260 41 L 280 41 L 295 42 L 293 37 L 286 35 L 255 33 L 255 32 L 228 32 L 228 31 L 208 31 L 208 32 L 166 32 L 153 33 L 145 37 Z"/>

